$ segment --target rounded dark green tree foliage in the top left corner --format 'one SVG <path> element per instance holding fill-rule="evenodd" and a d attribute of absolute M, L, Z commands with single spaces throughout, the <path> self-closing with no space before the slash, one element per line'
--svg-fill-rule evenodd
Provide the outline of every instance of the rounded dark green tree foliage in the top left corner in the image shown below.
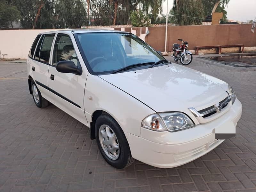
<path fill-rule="evenodd" d="M 8 4 L 7 1 L 0 1 L 0 28 L 12 26 L 12 22 L 20 18 L 20 12 L 16 6 Z"/>

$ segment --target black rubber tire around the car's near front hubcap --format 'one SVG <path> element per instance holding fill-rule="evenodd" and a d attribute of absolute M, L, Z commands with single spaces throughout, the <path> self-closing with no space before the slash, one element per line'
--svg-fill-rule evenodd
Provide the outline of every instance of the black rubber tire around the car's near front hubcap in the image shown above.
<path fill-rule="evenodd" d="M 118 146 L 119 146 L 119 156 L 116 160 L 109 158 L 105 154 L 101 146 L 100 139 L 99 139 L 99 129 L 101 125 L 109 126 L 116 135 L 116 139 L 118 140 Z M 126 140 L 124 132 L 113 117 L 109 116 L 108 114 L 102 114 L 97 118 L 95 123 L 95 136 L 96 136 L 100 153 L 103 156 L 103 158 L 108 162 L 108 164 L 112 165 L 117 169 L 123 169 L 125 167 L 128 167 L 134 162 L 134 159 L 132 158 L 130 147 L 129 147 L 128 141 Z"/>

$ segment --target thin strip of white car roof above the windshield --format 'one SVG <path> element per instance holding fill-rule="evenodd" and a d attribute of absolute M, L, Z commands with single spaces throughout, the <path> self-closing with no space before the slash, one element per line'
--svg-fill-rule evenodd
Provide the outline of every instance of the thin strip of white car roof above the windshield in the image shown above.
<path fill-rule="evenodd" d="M 61 32 L 68 32 L 72 34 L 76 33 L 129 33 L 126 31 L 118 31 L 118 30 L 110 30 L 110 29 L 65 29 L 65 30 L 54 30 L 54 31 L 47 31 L 44 33 L 39 33 L 39 34 L 49 34 L 49 33 L 61 33 Z"/>

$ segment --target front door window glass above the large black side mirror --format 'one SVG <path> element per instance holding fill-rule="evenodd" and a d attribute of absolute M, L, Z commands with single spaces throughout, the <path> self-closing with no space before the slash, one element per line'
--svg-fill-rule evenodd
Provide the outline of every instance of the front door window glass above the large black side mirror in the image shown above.
<path fill-rule="evenodd" d="M 70 37 L 66 34 L 58 34 L 54 49 L 53 62 L 56 66 L 59 61 L 71 60 L 77 66 L 77 56 Z"/>

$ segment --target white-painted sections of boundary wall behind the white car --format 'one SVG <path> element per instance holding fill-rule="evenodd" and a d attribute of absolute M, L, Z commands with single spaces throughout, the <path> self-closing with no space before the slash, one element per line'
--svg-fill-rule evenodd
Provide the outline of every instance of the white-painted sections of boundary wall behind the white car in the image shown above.
<path fill-rule="evenodd" d="M 114 30 L 114 28 L 102 28 Z M 23 29 L 23 30 L 0 30 L 0 52 L 7 54 L 5 59 L 27 59 L 30 47 L 39 33 L 47 31 L 55 31 L 63 29 Z M 121 28 L 124 31 L 124 28 Z M 146 28 L 146 31 L 148 28 Z M 132 30 L 136 35 L 136 30 Z M 141 35 L 141 39 L 145 41 L 145 34 Z M 0 54 L 0 59 L 3 58 Z"/>

